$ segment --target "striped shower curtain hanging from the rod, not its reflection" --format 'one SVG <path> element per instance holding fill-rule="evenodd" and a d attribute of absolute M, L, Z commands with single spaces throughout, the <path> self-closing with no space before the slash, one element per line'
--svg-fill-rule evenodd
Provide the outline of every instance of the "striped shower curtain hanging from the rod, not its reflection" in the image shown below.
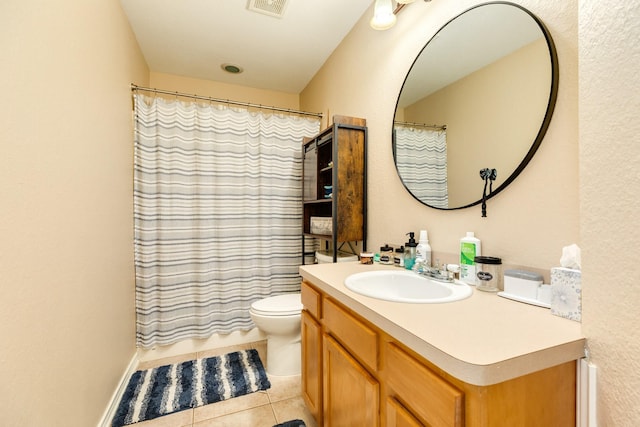
<path fill-rule="evenodd" d="M 252 329 L 299 290 L 301 147 L 319 120 L 135 94 L 137 344 Z"/>

